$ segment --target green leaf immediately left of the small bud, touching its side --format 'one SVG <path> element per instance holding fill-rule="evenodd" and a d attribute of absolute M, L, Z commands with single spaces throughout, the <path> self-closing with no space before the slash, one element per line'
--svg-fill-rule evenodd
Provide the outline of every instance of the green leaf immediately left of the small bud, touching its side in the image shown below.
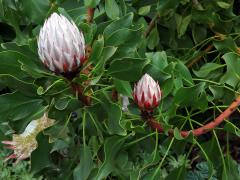
<path fill-rule="evenodd" d="M 128 97 L 132 97 L 132 88 L 128 81 L 122 81 L 114 78 L 113 83 L 119 93 Z"/>

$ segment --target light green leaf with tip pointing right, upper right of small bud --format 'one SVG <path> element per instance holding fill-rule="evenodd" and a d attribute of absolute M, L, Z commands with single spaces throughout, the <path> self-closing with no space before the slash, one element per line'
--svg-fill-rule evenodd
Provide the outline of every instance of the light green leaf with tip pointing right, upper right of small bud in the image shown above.
<path fill-rule="evenodd" d="M 194 74 L 198 77 L 207 77 L 211 72 L 224 67 L 217 63 L 206 63 L 198 71 L 193 70 Z"/>

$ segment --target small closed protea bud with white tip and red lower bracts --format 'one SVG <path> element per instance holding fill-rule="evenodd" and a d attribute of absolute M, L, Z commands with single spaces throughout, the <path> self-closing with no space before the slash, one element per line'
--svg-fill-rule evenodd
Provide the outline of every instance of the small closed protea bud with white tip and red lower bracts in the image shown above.
<path fill-rule="evenodd" d="M 155 82 L 151 76 L 145 74 L 133 91 L 134 101 L 141 110 L 152 110 L 157 107 L 161 99 L 161 91 L 158 82 Z"/>

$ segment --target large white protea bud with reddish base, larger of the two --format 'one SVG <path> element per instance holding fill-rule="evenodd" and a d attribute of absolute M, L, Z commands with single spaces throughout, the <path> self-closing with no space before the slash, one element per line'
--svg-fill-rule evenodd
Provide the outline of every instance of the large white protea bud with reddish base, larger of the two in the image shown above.
<path fill-rule="evenodd" d="M 38 54 L 55 73 L 75 72 L 85 60 L 83 34 L 73 21 L 53 13 L 40 30 Z"/>

